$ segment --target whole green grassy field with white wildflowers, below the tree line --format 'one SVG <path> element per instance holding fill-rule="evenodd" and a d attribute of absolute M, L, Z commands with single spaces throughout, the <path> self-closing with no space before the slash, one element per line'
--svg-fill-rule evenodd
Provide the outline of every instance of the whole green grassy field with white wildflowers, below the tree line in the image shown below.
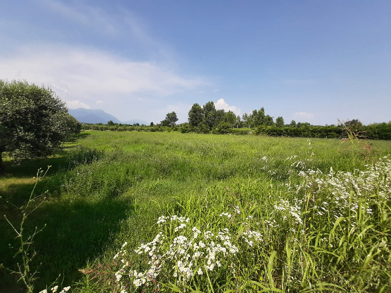
<path fill-rule="evenodd" d="M 25 223 L 47 224 L 31 246 L 34 292 L 59 274 L 72 292 L 391 292 L 391 142 L 370 144 L 88 131 L 55 157 L 6 161 L 0 195 L 23 205 L 52 166 Z M 0 263 L 14 268 L 15 232 L 0 229 Z M 0 291 L 23 292 L 16 280 L 0 270 Z"/>

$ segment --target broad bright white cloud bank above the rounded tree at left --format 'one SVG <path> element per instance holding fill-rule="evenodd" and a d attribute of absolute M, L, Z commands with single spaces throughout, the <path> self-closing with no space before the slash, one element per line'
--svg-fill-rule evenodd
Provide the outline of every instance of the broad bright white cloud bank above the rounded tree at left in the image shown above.
<path fill-rule="evenodd" d="M 155 63 L 80 48 L 24 47 L 14 56 L 1 58 L 0 63 L 0 79 L 49 85 L 61 91 L 58 94 L 65 100 L 73 96 L 83 102 L 96 101 L 99 95 L 102 102 L 134 93 L 162 97 L 208 84 L 202 78 L 182 77 Z"/>

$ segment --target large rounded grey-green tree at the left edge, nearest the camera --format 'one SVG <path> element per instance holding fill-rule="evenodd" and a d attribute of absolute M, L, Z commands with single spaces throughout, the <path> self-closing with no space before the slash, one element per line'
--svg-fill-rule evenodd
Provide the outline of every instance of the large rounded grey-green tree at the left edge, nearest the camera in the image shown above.
<path fill-rule="evenodd" d="M 3 152 L 16 163 L 47 157 L 80 128 L 80 123 L 68 114 L 65 102 L 49 87 L 0 80 L 1 169 Z"/>

